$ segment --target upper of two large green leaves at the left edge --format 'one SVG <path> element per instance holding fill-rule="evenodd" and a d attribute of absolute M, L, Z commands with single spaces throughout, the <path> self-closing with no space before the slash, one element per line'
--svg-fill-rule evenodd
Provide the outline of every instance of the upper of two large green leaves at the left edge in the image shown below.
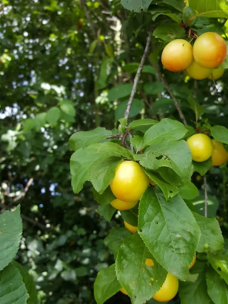
<path fill-rule="evenodd" d="M 15 257 L 21 235 L 22 220 L 19 205 L 15 211 L 5 211 L 0 215 L 0 270 L 3 270 Z"/>

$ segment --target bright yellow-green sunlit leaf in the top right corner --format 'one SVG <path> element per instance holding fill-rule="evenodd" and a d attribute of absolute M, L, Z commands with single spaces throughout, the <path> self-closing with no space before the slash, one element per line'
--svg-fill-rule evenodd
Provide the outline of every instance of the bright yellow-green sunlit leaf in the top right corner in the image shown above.
<path fill-rule="evenodd" d="M 196 17 L 228 18 L 228 7 L 225 0 L 188 0 L 188 5 Z"/>

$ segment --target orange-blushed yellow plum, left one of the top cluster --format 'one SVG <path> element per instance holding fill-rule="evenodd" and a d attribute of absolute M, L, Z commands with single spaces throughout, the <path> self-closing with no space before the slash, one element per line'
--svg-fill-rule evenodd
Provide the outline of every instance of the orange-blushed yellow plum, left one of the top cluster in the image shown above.
<path fill-rule="evenodd" d="M 183 39 L 175 39 L 165 46 L 162 64 L 172 72 L 185 69 L 193 60 L 193 47 Z"/>

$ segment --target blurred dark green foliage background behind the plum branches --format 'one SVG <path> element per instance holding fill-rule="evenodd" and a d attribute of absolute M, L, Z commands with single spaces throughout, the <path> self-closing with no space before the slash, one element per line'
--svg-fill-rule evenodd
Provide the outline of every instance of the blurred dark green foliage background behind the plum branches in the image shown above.
<path fill-rule="evenodd" d="M 118 127 L 151 14 L 129 15 L 119 0 L 2 0 L 0 18 L 0 207 L 21 204 L 17 259 L 33 275 L 40 303 L 92 304 L 97 272 L 113 263 L 103 239 L 123 222 L 118 213 L 110 222 L 97 213 L 90 183 L 79 195 L 72 192 L 68 139 L 76 131 Z M 162 18 L 155 23 L 166 22 Z M 224 24 L 218 20 L 221 31 Z M 153 37 L 151 52 L 158 52 L 161 68 L 162 46 Z M 193 96 L 205 109 L 202 121 L 228 127 L 226 71 L 216 83 L 162 71 L 190 125 L 195 114 L 187 99 Z M 130 116 L 179 119 L 149 62 Z M 212 168 L 207 180 L 209 212 L 227 237 L 226 165 Z M 200 209 L 202 177 L 195 173 L 193 182 Z M 116 301 L 130 302 L 120 292 L 107 303 Z"/>

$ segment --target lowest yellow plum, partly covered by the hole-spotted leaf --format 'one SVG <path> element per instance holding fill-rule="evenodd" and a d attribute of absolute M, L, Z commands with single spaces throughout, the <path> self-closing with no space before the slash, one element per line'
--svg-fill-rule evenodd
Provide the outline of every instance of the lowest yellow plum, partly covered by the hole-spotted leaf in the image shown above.
<path fill-rule="evenodd" d="M 178 279 L 172 274 L 168 273 L 164 284 L 162 285 L 161 289 L 157 291 L 153 296 L 153 299 L 158 302 L 170 301 L 177 294 L 178 287 Z"/>

